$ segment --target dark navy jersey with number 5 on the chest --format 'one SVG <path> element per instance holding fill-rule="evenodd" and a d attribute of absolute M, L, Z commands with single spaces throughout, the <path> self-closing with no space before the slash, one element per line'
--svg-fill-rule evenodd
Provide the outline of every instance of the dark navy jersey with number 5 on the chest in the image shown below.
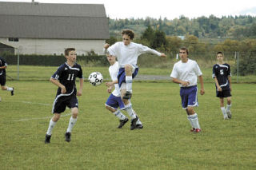
<path fill-rule="evenodd" d="M 218 85 L 221 86 L 222 90 L 230 89 L 230 82 L 228 77 L 231 76 L 230 65 L 214 65 L 213 67 L 213 78 L 217 77 Z"/>

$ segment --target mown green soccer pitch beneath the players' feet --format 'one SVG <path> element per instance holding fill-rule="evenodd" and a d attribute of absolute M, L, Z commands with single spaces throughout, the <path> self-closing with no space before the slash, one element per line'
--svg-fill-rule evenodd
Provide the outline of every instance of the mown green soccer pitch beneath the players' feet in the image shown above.
<path fill-rule="evenodd" d="M 85 82 L 71 142 L 64 138 L 70 110 L 44 144 L 57 87 L 49 81 L 7 81 L 0 91 L 1 169 L 256 169 L 255 84 L 234 84 L 232 119 L 223 120 L 213 83 L 198 95 L 202 132 L 190 132 L 172 82 L 138 82 L 132 103 L 144 128 L 116 128 L 105 109 L 106 86 Z M 123 112 L 125 113 L 125 112 Z M 127 115 L 127 114 L 126 114 Z"/>

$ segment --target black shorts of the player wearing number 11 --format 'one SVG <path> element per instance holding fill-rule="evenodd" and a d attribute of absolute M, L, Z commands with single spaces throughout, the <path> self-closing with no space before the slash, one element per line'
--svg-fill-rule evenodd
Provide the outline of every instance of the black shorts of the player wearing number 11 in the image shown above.
<path fill-rule="evenodd" d="M 52 109 L 52 113 L 63 113 L 68 108 L 78 108 L 78 98 L 75 94 L 65 96 L 65 94 L 59 94 L 55 100 Z"/>

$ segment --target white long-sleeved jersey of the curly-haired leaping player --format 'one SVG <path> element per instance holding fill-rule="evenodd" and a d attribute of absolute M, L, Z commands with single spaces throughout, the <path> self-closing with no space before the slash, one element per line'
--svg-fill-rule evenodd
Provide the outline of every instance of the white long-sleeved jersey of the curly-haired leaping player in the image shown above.
<path fill-rule="evenodd" d="M 110 55 L 118 58 L 119 67 L 124 67 L 126 64 L 137 65 L 138 56 L 142 53 L 154 53 L 161 56 L 161 53 L 147 46 L 130 42 L 130 45 L 124 45 L 123 42 L 116 42 L 108 49 Z"/>

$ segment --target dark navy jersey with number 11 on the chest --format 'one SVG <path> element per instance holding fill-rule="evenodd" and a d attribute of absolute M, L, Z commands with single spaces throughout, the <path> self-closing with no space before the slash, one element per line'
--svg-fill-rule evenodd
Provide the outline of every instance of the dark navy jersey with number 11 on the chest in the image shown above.
<path fill-rule="evenodd" d="M 77 92 L 75 87 L 76 77 L 82 78 L 82 68 L 77 63 L 74 63 L 73 67 L 70 67 L 67 63 L 60 65 L 52 76 L 66 87 L 66 93 L 70 95 Z M 61 93 L 61 90 L 61 88 L 58 88 L 57 95 Z"/>

